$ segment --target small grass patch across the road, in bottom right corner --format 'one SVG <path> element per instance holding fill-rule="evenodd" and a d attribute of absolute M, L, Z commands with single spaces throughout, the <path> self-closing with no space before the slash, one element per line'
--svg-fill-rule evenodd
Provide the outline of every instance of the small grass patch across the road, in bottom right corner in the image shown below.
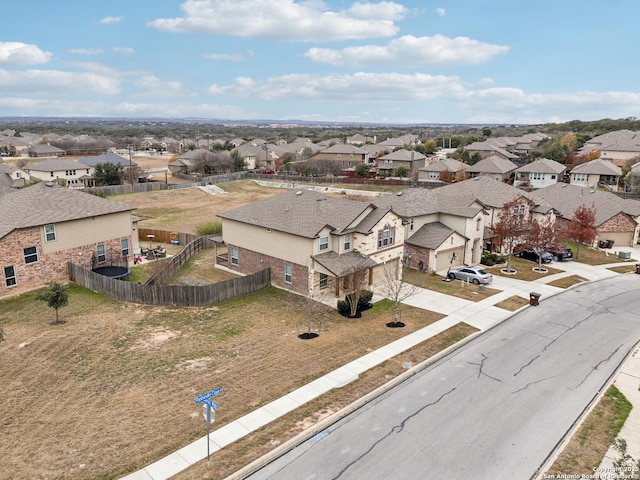
<path fill-rule="evenodd" d="M 554 478 L 560 478 L 558 474 L 592 475 L 631 408 L 631 403 L 612 385 L 546 473 L 555 475 Z"/>

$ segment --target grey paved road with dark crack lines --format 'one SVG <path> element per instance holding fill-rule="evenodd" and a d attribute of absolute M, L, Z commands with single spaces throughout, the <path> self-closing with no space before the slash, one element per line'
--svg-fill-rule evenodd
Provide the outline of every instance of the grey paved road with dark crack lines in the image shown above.
<path fill-rule="evenodd" d="M 640 340 L 639 288 L 543 299 L 249 478 L 529 479 Z"/>

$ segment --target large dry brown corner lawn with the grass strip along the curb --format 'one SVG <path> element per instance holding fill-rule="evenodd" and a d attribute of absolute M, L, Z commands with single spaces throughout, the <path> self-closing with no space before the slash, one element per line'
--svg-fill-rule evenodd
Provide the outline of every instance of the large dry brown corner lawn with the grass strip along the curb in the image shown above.
<path fill-rule="evenodd" d="M 78 286 L 60 310 L 31 292 L 0 302 L 0 458 L 9 478 L 116 478 L 204 434 L 194 398 L 221 387 L 216 428 L 345 363 L 442 318 L 402 306 L 401 329 L 385 323 L 382 301 L 357 320 L 275 288 L 207 308 L 116 302 Z M 474 331 L 457 326 L 293 412 L 265 442 L 249 438 L 223 452 L 231 473 L 311 421 Z M 123 454 L 126 452 L 126 454 Z M 206 464 L 206 462 L 205 462 Z M 202 478 L 202 473 L 193 478 Z M 216 474 L 218 475 L 218 474 Z M 184 477 L 189 478 L 189 477 Z M 218 478 L 218 477 L 216 477 Z"/>

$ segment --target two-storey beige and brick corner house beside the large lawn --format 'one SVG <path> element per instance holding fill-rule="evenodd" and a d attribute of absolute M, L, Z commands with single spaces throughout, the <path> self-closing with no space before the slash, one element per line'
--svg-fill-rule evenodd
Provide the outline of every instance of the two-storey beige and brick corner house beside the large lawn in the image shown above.
<path fill-rule="evenodd" d="M 227 267 L 251 274 L 271 268 L 271 283 L 318 297 L 350 293 L 352 276 L 370 286 L 397 268 L 404 219 L 373 203 L 287 191 L 218 215 L 228 248 Z"/>

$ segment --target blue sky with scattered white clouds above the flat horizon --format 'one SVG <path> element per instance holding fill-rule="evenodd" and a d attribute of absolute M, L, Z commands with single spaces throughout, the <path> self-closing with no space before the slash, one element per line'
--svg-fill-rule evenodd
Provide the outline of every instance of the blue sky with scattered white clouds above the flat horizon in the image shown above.
<path fill-rule="evenodd" d="M 0 117 L 636 117 L 639 18 L 638 0 L 10 1 Z"/>

